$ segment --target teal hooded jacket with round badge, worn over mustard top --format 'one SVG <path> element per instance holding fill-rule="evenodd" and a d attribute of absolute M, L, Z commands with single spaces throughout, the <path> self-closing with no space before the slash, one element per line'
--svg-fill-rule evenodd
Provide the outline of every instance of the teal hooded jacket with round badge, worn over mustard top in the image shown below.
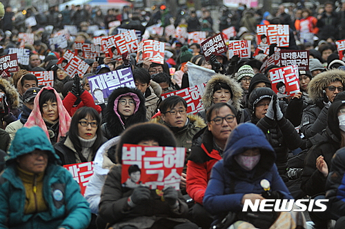
<path fill-rule="evenodd" d="M 35 149 L 48 152 L 48 166 L 43 177 L 43 198 L 48 210 L 24 214 L 26 190 L 17 175 L 16 159 Z M 57 163 L 46 133 L 39 127 L 21 128 L 12 141 L 7 168 L 0 177 L 0 228 L 86 228 L 90 209 L 70 172 Z M 62 195 L 61 199 L 56 193 Z"/>

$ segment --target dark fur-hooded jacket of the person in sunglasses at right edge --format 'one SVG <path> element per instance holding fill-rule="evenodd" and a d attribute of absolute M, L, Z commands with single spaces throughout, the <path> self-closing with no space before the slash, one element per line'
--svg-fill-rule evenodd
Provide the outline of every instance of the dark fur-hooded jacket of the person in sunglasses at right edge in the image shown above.
<path fill-rule="evenodd" d="M 308 84 L 309 99 L 313 105 L 307 106 L 302 114 L 300 130 L 305 137 L 311 138 L 326 128 L 327 108 L 324 108 L 323 90 L 330 83 L 339 80 L 345 86 L 345 72 L 333 69 L 317 74 Z"/>

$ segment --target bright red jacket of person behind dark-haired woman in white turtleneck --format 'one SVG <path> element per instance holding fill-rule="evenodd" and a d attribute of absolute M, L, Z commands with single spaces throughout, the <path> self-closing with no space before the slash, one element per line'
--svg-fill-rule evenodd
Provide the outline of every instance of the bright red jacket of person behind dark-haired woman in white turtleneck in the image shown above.
<path fill-rule="evenodd" d="M 63 99 L 63 101 L 62 101 L 63 106 L 68 111 L 68 114 L 70 115 L 70 117 L 75 115 L 75 112 L 79 108 L 82 108 L 83 106 L 88 106 L 90 108 L 95 108 L 95 110 L 97 110 L 97 112 L 99 114 L 101 113 L 102 108 L 95 104 L 95 101 L 93 101 L 93 97 L 92 97 L 92 95 L 89 92 L 84 91 L 83 94 L 80 95 L 81 102 L 78 104 L 78 106 L 74 106 L 75 105 L 75 101 L 77 101 L 77 99 L 78 98 L 72 92 L 69 92 L 67 94 L 67 96 L 65 97 L 65 99 Z"/>

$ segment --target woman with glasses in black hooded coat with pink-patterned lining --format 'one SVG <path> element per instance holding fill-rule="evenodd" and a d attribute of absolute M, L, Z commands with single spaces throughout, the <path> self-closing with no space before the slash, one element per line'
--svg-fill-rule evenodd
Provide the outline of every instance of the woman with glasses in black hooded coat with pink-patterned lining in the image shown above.
<path fill-rule="evenodd" d="M 108 97 L 106 123 L 101 126 L 107 139 L 117 137 L 129 126 L 146 121 L 144 94 L 137 88 L 117 88 Z"/>

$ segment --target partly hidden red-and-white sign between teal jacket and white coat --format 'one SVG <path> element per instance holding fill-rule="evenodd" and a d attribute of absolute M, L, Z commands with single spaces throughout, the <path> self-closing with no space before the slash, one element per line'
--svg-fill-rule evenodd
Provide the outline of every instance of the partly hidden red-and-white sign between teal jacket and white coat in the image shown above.
<path fill-rule="evenodd" d="M 88 182 L 93 175 L 93 161 L 72 163 L 69 165 L 64 165 L 63 167 L 71 173 L 73 179 L 75 179 L 80 186 L 81 195 L 84 195 L 86 186 L 88 186 Z"/>

